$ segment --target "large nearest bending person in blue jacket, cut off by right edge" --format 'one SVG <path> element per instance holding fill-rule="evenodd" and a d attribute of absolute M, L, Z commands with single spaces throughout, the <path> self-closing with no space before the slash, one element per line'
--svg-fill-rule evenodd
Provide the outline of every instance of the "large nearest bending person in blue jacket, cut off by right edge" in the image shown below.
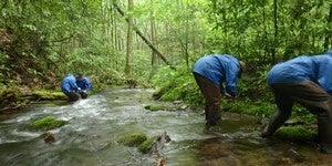
<path fill-rule="evenodd" d="M 267 80 L 277 110 L 261 136 L 271 137 L 290 117 L 297 102 L 318 115 L 320 149 L 332 153 L 332 51 L 276 64 Z"/>

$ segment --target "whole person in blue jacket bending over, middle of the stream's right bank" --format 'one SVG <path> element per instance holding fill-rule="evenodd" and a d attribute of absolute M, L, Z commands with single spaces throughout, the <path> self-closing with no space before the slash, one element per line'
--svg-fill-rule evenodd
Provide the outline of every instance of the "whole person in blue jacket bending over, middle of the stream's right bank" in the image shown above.
<path fill-rule="evenodd" d="M 193 74 L 206 102 L 207 127 L 220 125 L 220 97 L 234 98 L 237 95 L 237 77 L 240 77 L 243 66 L 243 62 L 228 54 L 205 55 L 194 64 Z"/>

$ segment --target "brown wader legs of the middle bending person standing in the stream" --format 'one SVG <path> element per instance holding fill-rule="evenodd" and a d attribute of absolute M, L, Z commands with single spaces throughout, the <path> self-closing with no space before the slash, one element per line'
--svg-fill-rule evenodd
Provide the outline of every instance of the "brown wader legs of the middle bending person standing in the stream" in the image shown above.
<path fill-rule="evenodd" d="M 193 73 L 197 85 L 205 98 L 205 115 L 207 125 L 220 125 L 221 110 L 220 110 L 220 86 L 212 81 L 201 76 L 200 74 Z"/>

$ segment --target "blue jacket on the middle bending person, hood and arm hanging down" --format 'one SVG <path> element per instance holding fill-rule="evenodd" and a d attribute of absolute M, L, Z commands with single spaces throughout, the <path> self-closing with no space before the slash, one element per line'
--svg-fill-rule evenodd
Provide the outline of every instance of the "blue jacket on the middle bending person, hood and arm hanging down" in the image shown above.
<path fill-rule="evenodd" d="M 198 73 L 220 86 L 235 96 L 237 94 L 237 75 L 239 73 L 239 61 L 229 54 L 212 54 L 200 58 L 193 66 L 193 72 Z"/>

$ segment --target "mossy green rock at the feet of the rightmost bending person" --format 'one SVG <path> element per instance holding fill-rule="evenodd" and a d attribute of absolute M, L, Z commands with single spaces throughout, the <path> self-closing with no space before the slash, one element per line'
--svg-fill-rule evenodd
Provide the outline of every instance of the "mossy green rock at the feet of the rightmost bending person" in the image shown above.
<path fill-rule="evenodd" d="M 303 126 L 282 126 L 276 132 L 276 135 L 288 141 L 304 142 L 314 141 L 318 133 Z"/>

